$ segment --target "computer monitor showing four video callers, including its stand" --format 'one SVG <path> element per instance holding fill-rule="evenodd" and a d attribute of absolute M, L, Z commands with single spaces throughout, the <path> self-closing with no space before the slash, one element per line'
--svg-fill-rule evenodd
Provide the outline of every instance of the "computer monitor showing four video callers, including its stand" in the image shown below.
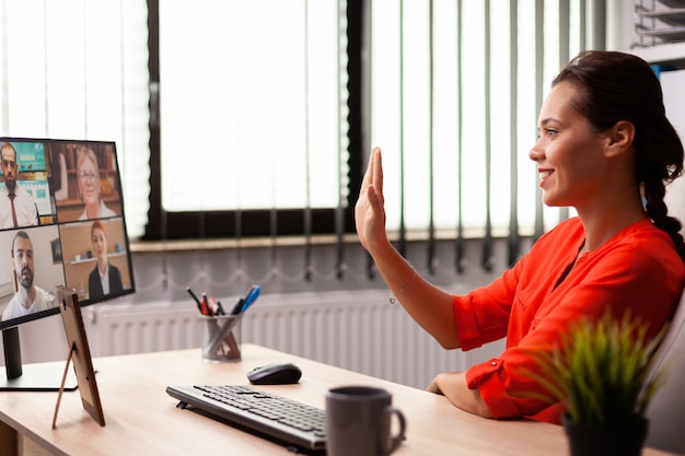
<path fill-rule="evenodd" d="M 116 145 L 0 138 L 0 390 L 57 390 L 60 369 L 22 366 L 19 327 L 59 314 L 58 287 L 81 306 L 136 291 Z"/>

